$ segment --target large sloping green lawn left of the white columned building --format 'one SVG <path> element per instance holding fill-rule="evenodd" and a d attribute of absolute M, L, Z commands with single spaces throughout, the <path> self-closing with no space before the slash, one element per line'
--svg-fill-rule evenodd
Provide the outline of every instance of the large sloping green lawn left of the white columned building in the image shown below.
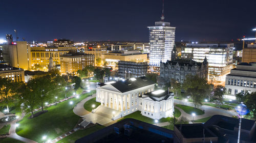
<path fill-rule="evenodd" d="M 74 106 L 77 102 L 88 97 L 91 93 L 80 95 L 80 97 L 73 98 L 67 101 L 58 103 L 56 106 L 46 108 L 48 112 L 33 119 L 28 119 L 30 115 L 26 115 L 23 120 L 19 121 L 19 127 L 16 128 L 16 133 L 20 136 L 43 142 L 42 136 L 47 135 L 48 139 L 53 139 L 71 129 L 77 124 L 80 117 L 73 112 Z M 70 104 L 73 101 L 73 104 Z"/>

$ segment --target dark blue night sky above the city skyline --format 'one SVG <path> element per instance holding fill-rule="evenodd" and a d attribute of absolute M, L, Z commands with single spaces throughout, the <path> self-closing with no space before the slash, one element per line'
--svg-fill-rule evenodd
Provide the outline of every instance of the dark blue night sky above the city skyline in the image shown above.
<path fill-rule="evenodd" d="M 83 0 L 0 2 L 0 39 L 47 41 L 148 41 L 147 26 L 159 21 L 161 0 Z M 254 37 L 255 0 L 164 1 L 165 21 L 176 27 L 176 41 L 231 41 Z"/>

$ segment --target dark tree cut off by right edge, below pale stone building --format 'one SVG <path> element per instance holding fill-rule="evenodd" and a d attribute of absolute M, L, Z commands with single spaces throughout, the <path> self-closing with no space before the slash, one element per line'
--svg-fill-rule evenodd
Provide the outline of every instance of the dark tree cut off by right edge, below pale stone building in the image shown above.
<path fill-rule="evenodd" d="M 256 92 L 251 93 L 249 96 L 246 96 L 245 105 L 250 110 L 250 113 L 253 116 L 256 116 Z"/>

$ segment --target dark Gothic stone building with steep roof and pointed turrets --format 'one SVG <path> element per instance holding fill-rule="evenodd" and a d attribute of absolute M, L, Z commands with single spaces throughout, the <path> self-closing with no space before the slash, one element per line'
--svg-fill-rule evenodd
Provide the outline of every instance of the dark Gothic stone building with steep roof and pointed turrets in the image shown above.
<path fill-rule="evenodd" d="M 183 83 L 186 75 L 198 75 L 207 79 L 208 62 L 205 58 L 202 63 L 177 59 L 175 61 L 160 62 L 160 79 L 159 85 L 166 85 L 171 79 Z"/>

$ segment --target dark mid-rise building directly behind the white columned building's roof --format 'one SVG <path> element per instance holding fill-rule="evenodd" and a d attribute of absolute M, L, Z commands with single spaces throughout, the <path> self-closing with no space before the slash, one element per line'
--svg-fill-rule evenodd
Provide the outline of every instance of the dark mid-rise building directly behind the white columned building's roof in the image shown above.
<path fill-rule="evenodd" d="M 130 61 L 119 61 L 118 62 L 118 76 L 126 77 L 141 77 L 147 73 L 148 65 L 147 62 L 130 62 Z M 130 75 L 129 75 L 130 74 Z"/>

